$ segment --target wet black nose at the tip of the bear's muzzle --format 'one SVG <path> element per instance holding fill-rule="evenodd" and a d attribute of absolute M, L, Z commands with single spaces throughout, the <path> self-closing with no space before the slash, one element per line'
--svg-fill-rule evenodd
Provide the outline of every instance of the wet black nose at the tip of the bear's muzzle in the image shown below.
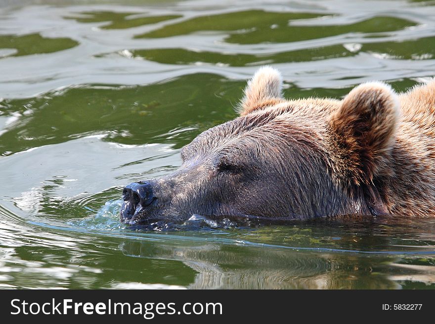
<path fill-rule="evenodd" d="M 123 204 L 121 217 L 124 222 L 136 223 L 145 213 L 145 208 L 153 204 L 157 197 L 154 195 L 150 182 L 131 182 L 123 189 Z"/>

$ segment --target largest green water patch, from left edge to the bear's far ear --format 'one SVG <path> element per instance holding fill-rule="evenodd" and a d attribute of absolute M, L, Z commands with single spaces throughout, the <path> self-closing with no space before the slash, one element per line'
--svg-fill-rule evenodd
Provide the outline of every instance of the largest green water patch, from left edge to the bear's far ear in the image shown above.
<path fill-rule="evenodd" d="M 0 135 L 0 154 L 97 133 L 122 144 L 180 147 L 234 117 L 231 102 L 238 101 L 243 86 L 244 82 L 217 75 L 192 74 L 148 86 L 72 87 L 36 98 L 4 100 L 0 113 L 13 115 L 19 123 L 9 123 Z"/>

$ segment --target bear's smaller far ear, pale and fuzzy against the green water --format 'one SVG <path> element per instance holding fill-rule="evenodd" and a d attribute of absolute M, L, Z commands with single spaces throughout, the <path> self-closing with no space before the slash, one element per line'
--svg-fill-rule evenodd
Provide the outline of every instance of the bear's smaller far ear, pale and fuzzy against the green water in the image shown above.
<path fill-rule="evenodd" d="M 268 66 L 261 67 L 248 81 L 245 95 L 237 111 L 241 116 L 282 101 L 281 73 Z"/>

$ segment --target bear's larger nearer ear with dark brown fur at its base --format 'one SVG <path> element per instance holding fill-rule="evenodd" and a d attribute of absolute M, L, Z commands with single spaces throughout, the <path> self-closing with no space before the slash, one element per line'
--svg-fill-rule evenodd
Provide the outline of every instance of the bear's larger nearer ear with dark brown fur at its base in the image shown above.
<path fill-rule="evenodd" d="M 389 157 L 399 119 L 399 101 L 382 82 L 355 87 L 331 116 L 330 131 L 340 172 L 354 184 L 391 174 Z"/>

